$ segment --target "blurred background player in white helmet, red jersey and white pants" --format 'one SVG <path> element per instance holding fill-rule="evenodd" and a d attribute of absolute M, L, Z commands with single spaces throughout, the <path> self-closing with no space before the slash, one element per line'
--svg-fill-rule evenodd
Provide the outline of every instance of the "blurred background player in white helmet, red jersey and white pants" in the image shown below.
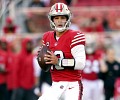
<path fill-rule="evenodd" d="M 82 100 L 103 100 L 103 82 L 99 79 L 99 60 L 103 54 L 97 52 L 93 37 L 86 37 L 86 66 L 82 73 L 83 96 Z"/>

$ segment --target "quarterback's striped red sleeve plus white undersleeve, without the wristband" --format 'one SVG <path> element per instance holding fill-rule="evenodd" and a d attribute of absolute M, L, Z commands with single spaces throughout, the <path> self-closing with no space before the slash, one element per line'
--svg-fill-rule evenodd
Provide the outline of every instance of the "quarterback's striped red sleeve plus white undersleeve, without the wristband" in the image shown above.
<path fill-rule="evenodd" d="M 83 70 L 85 67 L 85 35 L 79 31 L 71 34 L 71 53 L 75 59 L 74 70 Z"/>

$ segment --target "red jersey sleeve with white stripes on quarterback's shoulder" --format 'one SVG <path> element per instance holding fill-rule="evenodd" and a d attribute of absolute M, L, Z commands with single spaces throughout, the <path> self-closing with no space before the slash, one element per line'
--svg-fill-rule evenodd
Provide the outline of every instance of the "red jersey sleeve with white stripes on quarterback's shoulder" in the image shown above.
<path fill-rule="evenodd" d="M 84 45 L 85 46 L 85 35 L 82 32 L 74 31 L 71 33 L 70 47 L 73 48 L 77 45 Z"/>

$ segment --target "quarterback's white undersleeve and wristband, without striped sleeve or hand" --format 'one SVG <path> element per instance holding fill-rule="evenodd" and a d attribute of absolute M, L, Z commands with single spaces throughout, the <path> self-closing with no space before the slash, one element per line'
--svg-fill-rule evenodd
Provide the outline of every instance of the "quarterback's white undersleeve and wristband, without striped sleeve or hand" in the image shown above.
<path fill-rule="evenodd" d="M 59 59 L 58 65 L 64 68 L 82 70 L 85 67 L 86 55 L 85 46 L 77 45 L 71 49 L 73 59 Z"/>

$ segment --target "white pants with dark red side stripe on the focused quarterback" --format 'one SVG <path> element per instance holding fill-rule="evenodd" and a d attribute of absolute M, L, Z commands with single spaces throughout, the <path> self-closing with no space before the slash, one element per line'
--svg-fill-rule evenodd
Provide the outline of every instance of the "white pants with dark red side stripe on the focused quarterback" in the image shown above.
<path fill-rule="evenodd" d="M 43 93 L 38 100 L 79 100 L 81 88 L 82 86 L 78 81 L 53 82 L 49 90 Z"/>

